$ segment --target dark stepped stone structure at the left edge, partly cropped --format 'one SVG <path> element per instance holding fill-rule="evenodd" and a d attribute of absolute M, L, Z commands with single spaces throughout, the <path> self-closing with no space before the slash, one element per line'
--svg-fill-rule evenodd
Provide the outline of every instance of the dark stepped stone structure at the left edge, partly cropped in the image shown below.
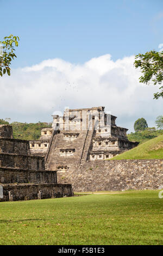
<path fill-rule="evenodd" d="M 45 170 L 45 158 L 30 154 L 29 141 L 14 139 L 12 126 L 0 125 L 0 202 L 73 196 L 70 184 L 58 184 Z"/>

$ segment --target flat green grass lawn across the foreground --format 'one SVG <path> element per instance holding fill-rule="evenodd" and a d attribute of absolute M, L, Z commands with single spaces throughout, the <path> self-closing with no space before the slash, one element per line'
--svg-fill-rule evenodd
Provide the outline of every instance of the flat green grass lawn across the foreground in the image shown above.
<path fill-rule="evenodd" d="M 163 245 L 159 191 L 0 203 L 0 245 Z"/>

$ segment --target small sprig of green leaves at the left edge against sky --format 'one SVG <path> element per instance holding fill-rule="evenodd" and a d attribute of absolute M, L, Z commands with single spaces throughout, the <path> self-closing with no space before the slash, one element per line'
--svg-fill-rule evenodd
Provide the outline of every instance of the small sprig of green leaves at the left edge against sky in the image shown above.
<path fill-rule="evenodd" d="M 11 60 L 16 58 L 14 53 L 14 45 L 18 46 L 18 36 L 5 36 L 4 41 L 0 41 L 0 76 L 3 76 L 6 72 L 10 76 Z"/>

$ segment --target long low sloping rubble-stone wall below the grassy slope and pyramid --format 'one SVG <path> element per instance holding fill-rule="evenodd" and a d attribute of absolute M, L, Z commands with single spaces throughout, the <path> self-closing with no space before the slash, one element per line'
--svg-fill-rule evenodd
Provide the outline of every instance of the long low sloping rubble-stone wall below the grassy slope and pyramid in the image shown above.
<path fill-rule="evenodd" d="M 163 160 L 95 160 L 57 173 L 74 191 L 155 190 L 163 185 Z"/>

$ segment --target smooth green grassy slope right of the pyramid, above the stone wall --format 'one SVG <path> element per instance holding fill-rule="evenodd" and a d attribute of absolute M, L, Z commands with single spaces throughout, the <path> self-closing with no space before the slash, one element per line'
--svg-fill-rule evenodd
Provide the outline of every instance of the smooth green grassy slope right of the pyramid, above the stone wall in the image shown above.
<path fill-rule="evenodd" d="M 138 145 L 110 160 L 123 159 L 163 159 L 163 135 L 149 139 L 149 141 Z"/>

